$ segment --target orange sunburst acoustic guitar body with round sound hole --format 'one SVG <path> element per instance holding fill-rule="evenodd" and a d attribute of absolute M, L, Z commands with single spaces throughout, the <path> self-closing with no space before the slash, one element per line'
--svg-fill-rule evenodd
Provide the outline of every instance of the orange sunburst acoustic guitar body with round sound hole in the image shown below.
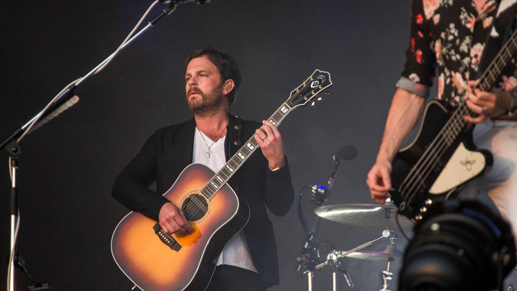
<path fill-rule="evenodd" d="M 182 209 L 192 225 L 186 234 L 167 236 L 159 224 L 131 212 L 115 228 L 111 251 L 118 267 L 144 291 L 204 290 L 224 245 L 248 222 L 249 207 L 224 184 L 204 199 L 199 190 L 214 176 L 191 164 L 163 196 Z"/>

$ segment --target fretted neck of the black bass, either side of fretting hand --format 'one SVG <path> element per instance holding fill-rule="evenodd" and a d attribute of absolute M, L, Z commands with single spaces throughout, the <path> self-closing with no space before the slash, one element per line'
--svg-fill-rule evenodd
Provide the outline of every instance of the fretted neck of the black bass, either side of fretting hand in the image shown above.
<path fill-rule="evenodd" d="M 517 52 L 517 30 L 513 32 L 508 41 L 505 43 L 503 48 L 499 51 L 499 53 L 494 57 L 492 63 L 486 68 L 479 79 L 478 84 L 475 88 L 490 92 L 495 85 L 495 82 L 501 76 L 502 72 L 506 69 L 507 65 L 511 62 L 513 55 Z M 470 108 L 465 104 L 465 100 L 458 106 L 452 117 L 449 119 L 447 124 L 444 126 L 444 129 L 440 134 L 445 138 L 448 144 L 454 142 L 454 140 L 459 136 L 462 130 L 467 125 L 467 121 L 464 119 L 465 115 L 472 116 L 475 114 Z"/>

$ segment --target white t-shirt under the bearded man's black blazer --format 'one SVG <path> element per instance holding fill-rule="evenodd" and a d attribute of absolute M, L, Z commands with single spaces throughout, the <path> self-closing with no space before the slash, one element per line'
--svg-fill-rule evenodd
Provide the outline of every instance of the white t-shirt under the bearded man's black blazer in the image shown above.
<path fill-rule="evenodd" d="M 203 164 L 217 173 L 224 164 L 226 164 L 226 158 L 224 155 L 225 138 L 221 138 L 214 142 L 197 127 L 194 130 L 194 153 L 192 156 L 192 162 Z M 214 143 L 212 144 L 212 142 Z M 210 146 L 210 149 L 208 149 L 207 144 Z M 209 154 L 208 151 L 210 151 Z M 226 243 L 217 259 L 216 265 L 232 265 L 257 272 L 255 265 L 253 265 L 253 260 L 251 259 L 244 231 L 241 230 L 237 232 L 237 234 L 228 241 L 228 243 Z"/>

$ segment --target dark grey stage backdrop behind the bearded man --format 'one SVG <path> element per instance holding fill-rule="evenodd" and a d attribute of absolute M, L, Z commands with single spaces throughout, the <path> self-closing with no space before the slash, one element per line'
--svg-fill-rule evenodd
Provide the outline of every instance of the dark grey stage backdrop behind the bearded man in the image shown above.
<path fill-rule="evenodd" d="M 5 2 L 0 12 L 0 138 L 111 54 L 150 4 Z M 214 0 L 178 6 L 81 84 L 77 105 L 21 142 L 18 251 L 29 273 L 56 291 L 131 288 L 110 251 L 112 231 L 128 213 L 111 197 L 111 186 L 157 128 L 191 118 L 184 101 L 184 60 L 206 46 L 233 55 L 240 65 L 244 81 L 231 113 L 249 120 L 268 118 L 314 69 L 329 71 L 331 94 L 314 107 L 295 110 L 280 128 L 295 192 L 305 184 L 324 183 L 332 155 L 351 144 L 358 155 L 342 162 L 327 205 L 373 203 L 364 181 L 404 63 L 409 11 L 409 1 L 382 0 Z M 2 151 L 0 284 L 7 274 L 9 185 L 8 155 Z M 303 198 L 312 224 L 315 206 L 308 193 Z M 306 277 L 296 271 L 303 244 L 296 201 L 287 215 L 270 219 L 281 282 L 271 290 L 301 290 L 302 282 L 307 289 Z M 381 230 L 322 221 L 316 240 L 344 251 L 379 237 Z M 381 242 L 368 250 L 385 246 Z M 328 251 L 329 245 L 322 245 L 322 256 Z M 355 290 L 381 289 L 379 273 L 386 263 L 346 259 L 346 264 Z M 315 290 L 331 289 L 331 271 L 326 267 L 316 273 Z M 346 288 L 343 278 L 338 283 Z M 26 290 L 31 282 L 17 272 L 17 285 Z"/>

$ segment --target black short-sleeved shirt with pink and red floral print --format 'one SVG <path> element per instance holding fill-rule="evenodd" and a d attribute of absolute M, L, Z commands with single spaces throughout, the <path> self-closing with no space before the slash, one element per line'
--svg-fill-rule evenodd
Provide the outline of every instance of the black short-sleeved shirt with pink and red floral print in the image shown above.
<path fill-rule="evenodd" d="M 436 99 L 452 108 L 463 102 L 467 85 L 478 70 L 496 8 L 496 1 L 488 0 L 478 14 L 472 0 L 414 0 L 402 78 L 413 81 L 418 91 L 419 86 L 432 85 L 437 67 Z M 510 91 L 517 86 L 516 77 L 513 62 L 496 86 Z"/>

